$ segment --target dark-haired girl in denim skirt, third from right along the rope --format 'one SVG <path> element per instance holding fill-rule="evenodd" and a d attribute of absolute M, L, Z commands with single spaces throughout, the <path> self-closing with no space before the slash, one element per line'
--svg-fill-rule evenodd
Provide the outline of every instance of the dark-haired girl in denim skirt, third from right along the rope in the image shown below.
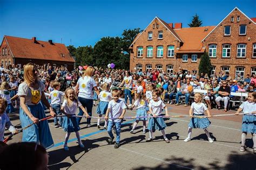
<path fill-rule="evenodd" d="M 163 117 L 157 117 L 161 115 L 163 109 L 165 109 L 165 117 L 169 117 L 167 107 L 165 106 L 164 102 L 159 99 L 161 96 L 161 92 L 159 90 L 152 91 L 152 100 L 149 103 L 149 111 L 153 118 L 149 119 L 149 125 L 147 125 L 147 129 L 149 130 L 149 139 L 146 142 L 153 140 L 153 131 L 159 130 L 163 134 L 164 140 L 166 143 L 169 143 L 169 139 L 165 136 L 165 127 L 166 124 L 164 123 Z"/>

